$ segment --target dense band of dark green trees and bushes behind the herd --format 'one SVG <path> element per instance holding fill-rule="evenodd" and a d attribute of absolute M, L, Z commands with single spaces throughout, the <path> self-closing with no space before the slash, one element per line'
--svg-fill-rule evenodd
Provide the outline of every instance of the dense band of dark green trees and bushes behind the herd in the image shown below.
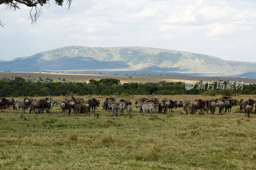
<path fill-rule="evenodd" d="M 224 81 L 223 84 L 228 82 Z M 0 97 L 20 97 L 20 96 L 86 96 L 86 95 L 177 95 L 203 94 L 206 96 L 233 95 L 233 94 L 256 94 L 256 84 L 243 84 L 243 89 L 217 89 L 215 84 L 213 89 L 200 89 L 200 83 L 196 83 L 191 90 L 185 89 L 184 82 L 158 83 L 120 83 L 120 80 L 107 78 L 101 80 L 89 80 L 89 82 L 32 82 L 25 81 L 21 77 L 14 80 L 2 79 L 0 81 Z M 205 84 L 205 87 L 208 83 Z"/>

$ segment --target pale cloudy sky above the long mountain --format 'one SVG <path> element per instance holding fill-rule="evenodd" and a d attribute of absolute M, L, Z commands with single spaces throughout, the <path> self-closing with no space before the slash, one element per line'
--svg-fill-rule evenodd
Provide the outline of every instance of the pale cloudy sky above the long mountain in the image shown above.
<path fill-rule="evenodd" d="M 30 9 L 0 5 L 0 59 L 54 48 L 143 46 L 256 62 L 255 0 L 74 0 L 43 7 L 31 25 Z"/>

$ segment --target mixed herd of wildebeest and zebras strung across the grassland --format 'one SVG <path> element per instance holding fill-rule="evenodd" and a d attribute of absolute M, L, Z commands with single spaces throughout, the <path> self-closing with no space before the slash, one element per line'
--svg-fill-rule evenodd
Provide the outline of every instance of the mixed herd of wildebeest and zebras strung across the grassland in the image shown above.
<path fill-rule="evenodd" d="M 44 113 L 44 110 L 49 113 L 52 112 L 52 107 L 54 105 L 60 105 L 60 115 L 64 113 L 70 115 L 73 110 L 73 114 L 80 115 L 81 113 L 89 114 L 90 111 L 95 113 L 97 107 L 100 106 L 100 101 L 95 98 L 84 100 L 80 97 L 71 97 L 71 98 L 63 98 L 63 100 L 53 100 L 50 98 L 43 98 L 40 100 L 36 100 L 33 98 L 25 98 L 23 101 L 14 101 L 14 99 L 10 98 L 0 98 L 0 109 L 4 112 L 4 109 L 15 109 L 17 113 L 20 111 L 25 112 L 26 109 L 29 109 L 29 114 L 34 112 L 35 114 Z M 241 99 L 240 102 L 231 97 L 221 97 L 220 99 L 195 99 L 192 101 L 183 99 L 182 101 L 173 101 L 172 99 L 164 98 L 162 101 L 159 98 L 139 98 L 135 100 L 136 108 L 140 108 L 140 113 L 148 113 L 152 116 L 154 112 L 156 113 L 165 113 L 167 114 L 168 110 L 172 112 L 172 109 L 177 109 L 178 107 L 182 107 L 183 110 L 180 114 L 195 114 L 198 110 L 200 112 L 206 112 L 209 114 L 214 114 L 216 108 L 219 108 L 219 115 L 223 115 L 224 113 L 228 113 L 231 111 L 233 106 L 236 106 L 237 103 L 240 105 L 240 110 L 245 111 L 245 116 L 250 117 L 250 112 L 252 112 L 253 104 L 256 104 L 256 100 L 249 98 L 248 100 Z M 124 100 L 116 100 L 116 98 L 109 97 L 106 98 L 103 105 L 103 110 L 109 112 L 109 116 L 118 116 L 118 112 L 120 111 L 120 116 L 123 116 L 124 110 L 127 111 L 127 114 L 130 115 L 132 112 L 132 102 L 130 99 Z M 224 110 L 225 109 L 225 110 Z M 67 113 L 68 111 L 68 113 Z M 255 109 L 256 112 L 256 109 Z M 254 112 L 254 113 L 255 113 Z"/>

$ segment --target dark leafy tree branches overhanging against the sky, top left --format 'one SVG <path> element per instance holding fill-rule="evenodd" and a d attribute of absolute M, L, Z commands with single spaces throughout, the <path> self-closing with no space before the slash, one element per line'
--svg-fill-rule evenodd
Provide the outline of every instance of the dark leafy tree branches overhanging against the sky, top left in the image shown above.
<path fill-rule="evenodd" d="M 30 13 L 29 13 L 29 19 L 31 21 L 31 24 L 35 24 L 37 19 L 42 15 L 42 6 L 45 4 L 49 4 L 50 0 L 0 0 L 0 5 L 3 4 L 6 6 L 6 9 L 20 9 L 21 5 L 24 4 L 28 7 L 31 7 Z M 64 0 L 54 0 L 56 5 L 62 6 L 64 3 Z M 70 8 L 72 0 L 66 0 L 68 4 L 68 9 Z M 1 23 L 0 20 L 0 25 L 4 27 L 3 23 Z"/>

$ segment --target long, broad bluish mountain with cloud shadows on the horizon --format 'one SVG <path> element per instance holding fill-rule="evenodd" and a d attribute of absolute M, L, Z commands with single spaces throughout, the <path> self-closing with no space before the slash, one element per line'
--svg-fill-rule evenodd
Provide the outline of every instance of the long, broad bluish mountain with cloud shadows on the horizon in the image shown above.
<path fill-rule="evenodd" d="M 246 76 L 256 62 L 223 60 L 187 51 L 152 47 L 67 46 L 0 62 L 0 70 L 132 73 L 150 75 Z M 254 78 L 254 77 L 253 77 Z"/>

